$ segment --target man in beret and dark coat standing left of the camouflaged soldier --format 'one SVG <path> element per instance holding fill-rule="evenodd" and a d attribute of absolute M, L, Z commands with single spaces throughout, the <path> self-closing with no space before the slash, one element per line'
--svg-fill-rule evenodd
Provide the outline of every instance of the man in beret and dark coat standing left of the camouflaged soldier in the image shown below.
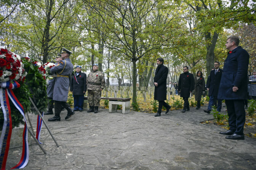
<path fill-rule="evenodd" d="M 71 77 L 70 91 L 74 97 L 74 111 L 83 111 L 83 99 L 86 92 L 86 74 L 81 72 L 82 66 L 75 67 L 75 74 Z"/>

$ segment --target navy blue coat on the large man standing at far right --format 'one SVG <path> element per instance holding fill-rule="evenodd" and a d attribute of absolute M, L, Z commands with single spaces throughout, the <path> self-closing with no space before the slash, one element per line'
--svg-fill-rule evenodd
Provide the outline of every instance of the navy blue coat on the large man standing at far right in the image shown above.
<path fill-rule="evenodd" d="M 224 62 L 218 99 L 245 100 L 247 99 L 247 72 L 249 54 L 241 46 L 228 53 Z M 237 86 L 237 92 L 233 87 Z"/>

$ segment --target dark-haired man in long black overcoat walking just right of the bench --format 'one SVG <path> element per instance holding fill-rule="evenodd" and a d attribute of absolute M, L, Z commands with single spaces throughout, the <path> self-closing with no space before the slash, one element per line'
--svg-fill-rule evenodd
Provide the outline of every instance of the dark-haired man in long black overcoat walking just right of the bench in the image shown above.
<path fill-rule="evenodd" d="M 166 100 L 166 79 L 168 76 L 168 68 L 163 65 L 163 58 L 157 58 L 157 69 L 155 70 L 154 77 L 154 99 L 158 101 L 158 111 L 155 117 L 161 116 L 162 107 L 166 108 L 166 113 L 169 112 L 171 106 L 168 105 Z"/>

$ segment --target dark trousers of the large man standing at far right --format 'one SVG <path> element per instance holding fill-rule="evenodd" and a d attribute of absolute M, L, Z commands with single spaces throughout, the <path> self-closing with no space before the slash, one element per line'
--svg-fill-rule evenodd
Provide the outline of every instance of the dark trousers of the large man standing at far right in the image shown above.
<path fill-rule="evenodd" d="M 229 129 L 237 135 L 243 135 L 243 125 L 245 124 L 244 100 L 225 100 L 225 103 L 229 115 Z"/>

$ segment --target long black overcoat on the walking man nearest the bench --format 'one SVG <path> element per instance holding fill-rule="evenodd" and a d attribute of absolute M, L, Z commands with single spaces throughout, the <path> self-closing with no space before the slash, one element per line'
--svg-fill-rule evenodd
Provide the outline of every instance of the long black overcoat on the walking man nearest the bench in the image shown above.
<path fill-rule="evenodd" d="M 168 76 L 168 68 L 164 65 L 157 66 L 155 70 L 154 82 L 158 84 L 155 86 L 154 99 L 157 101 L 166 100 L 166 79 Z"/>

